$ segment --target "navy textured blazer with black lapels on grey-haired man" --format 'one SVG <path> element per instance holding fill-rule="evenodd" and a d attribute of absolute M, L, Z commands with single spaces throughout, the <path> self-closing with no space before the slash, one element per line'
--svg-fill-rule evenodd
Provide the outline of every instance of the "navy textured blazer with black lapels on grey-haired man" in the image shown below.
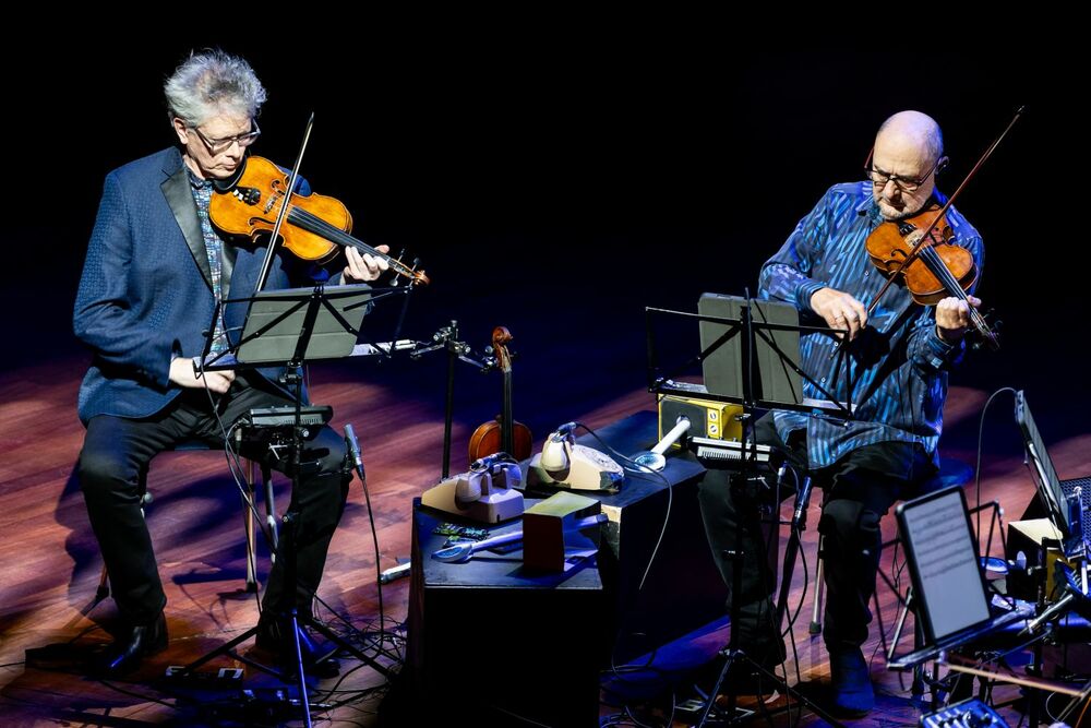
<path fill-rule="evenodd" d="M 224 246 L 225 297 L 253 293 L 265 248 L 248 243 Z M 277 256 L 266 288 L 289 285 Z M 107 175 L 73 317 L 75 335 L 94 353 L 80 386 L 80 419 L 163 409 L 181 393 L 170 383 L 170 361 L 203 353 L 215 303 L 181 153 L 167 148 Z M 229 307 L 228 327 L 241 325 L 241 308 Z M 278 372 L 262 373 L 275 381 Z"/>

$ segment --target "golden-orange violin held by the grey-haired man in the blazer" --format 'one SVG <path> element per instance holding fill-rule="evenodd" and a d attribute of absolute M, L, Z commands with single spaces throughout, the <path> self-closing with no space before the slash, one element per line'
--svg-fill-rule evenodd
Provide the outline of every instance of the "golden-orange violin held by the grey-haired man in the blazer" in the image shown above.
<path fill-rule="evenodd" d="M 340 201 L 324 194 L 288 194 L 288 177 L 268 159 L 248 156 L 231 179 L 215 186 L 218 194 L 208 204 L 209 219 L 227 235 L 256 239 L 273 230 L 287 200 L 280 236 L 284 247 L 298 258 L 325 263 L 340 247 L 351 247 L 385 260 L 391 271 L 408 278 L 410 285 L 430 282 L 416 263 L 407 265 L 349 235 L 352 215 Z"/>

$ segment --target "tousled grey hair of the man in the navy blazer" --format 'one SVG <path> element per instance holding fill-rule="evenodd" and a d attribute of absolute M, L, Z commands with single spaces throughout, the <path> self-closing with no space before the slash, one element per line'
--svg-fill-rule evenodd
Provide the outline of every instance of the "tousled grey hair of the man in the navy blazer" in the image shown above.
<path fill-rule="evenodd" d="M 265 87 L 250 63 L 218 49 L 190 53 L 163 93 L 170 119 L 178 117 L 189 127 L 221 114 L 253 118 L 265 102 Z"/>

